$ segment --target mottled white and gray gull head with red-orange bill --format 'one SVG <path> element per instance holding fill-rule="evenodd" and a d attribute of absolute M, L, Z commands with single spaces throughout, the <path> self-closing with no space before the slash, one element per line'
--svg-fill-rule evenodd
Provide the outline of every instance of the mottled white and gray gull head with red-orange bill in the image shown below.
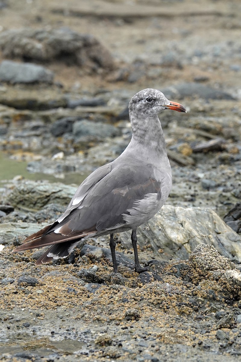
<path fill-rule="evenodd" d="M 173 109 L 178 112 L 186 112 L 184 106 L 179 103 L 169 101 L 158 89 L 143 89 L 129 103 L 129 113 L 134 117 L 144 116 L 151 118 L 165 109 Z"/>

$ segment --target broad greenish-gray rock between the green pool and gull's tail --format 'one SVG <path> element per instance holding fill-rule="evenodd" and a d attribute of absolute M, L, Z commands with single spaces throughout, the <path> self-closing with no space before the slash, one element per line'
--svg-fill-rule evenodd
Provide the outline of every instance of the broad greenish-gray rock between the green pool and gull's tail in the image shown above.
<path fill-rule="evenodd" d="M 67 206 L 75 191 L 75 186 L 26 180 L 16 185 L 7 201 L 20 210 L 39 211 L 50 203 Z"/>

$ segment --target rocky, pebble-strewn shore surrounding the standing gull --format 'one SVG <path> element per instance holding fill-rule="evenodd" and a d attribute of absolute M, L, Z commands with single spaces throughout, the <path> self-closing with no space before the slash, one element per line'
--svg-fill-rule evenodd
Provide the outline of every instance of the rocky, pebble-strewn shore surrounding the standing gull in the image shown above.
<path fill-rule="evenodd" d="M 237 361 L 240 13 L 238 0 L 0 1 L 1 361 Z M 117 274 L 108 237 L 41 267 L 42 250 L 12 254 L 125 149 L 128 102 L 147 87 L 188 110 L 160 116 L 173 186 L 138 229 L 149 271 L 133 271 L 129 232 Z"/>

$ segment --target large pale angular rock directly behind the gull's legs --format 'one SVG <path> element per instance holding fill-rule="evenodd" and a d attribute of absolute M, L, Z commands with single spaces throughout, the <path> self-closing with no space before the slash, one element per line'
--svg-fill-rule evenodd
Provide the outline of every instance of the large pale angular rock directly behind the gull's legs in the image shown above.
<path fill-rule="evenodd" d="M 132 249 L 129 231 L 117 237 L 126 249 Z M 137 229 L 137 237 L 140 249 L 150 244 L 159 260 L 185 260 L 198 244 L 204 243 L 214 245 L 225 257 L 241 261 L 241 237 L 208 208 L 164 205 Z"/>

